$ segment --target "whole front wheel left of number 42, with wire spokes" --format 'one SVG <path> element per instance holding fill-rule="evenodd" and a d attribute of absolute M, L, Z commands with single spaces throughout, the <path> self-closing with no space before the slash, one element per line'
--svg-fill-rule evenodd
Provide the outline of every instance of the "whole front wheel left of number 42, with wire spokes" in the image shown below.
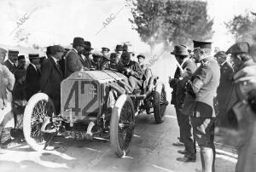
<path fill-rule="evenodd" d="M 38 93 L 28 101 L 23 118 L 23 134 L 26 143 L 35 151 L 42 151 L 50 134 L 42 131 L 42 125 L 46 117 L 55 114 L 55 106 L 48 95 Z M 45 126 L 49 128 L 49 124 Z"/>

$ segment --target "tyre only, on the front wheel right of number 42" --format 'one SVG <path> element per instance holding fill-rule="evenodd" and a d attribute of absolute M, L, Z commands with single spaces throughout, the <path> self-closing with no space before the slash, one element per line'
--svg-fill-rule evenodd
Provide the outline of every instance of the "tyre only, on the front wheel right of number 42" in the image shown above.
<path fill-rule="evenodd" d="M 125 105 L 125 102 L 128 101 L 131 104 L 131 110 L 133 115 L 133 123 L 135 123 L 135 110 L 133 106 L 133 102 L 131 100 L 131 97 L 129 95 L 120 95 L 118 100 L 116 101 L 115 105 L 113 106 L 112 116 L 110 120 L 110 144 L 113 148 L 113 152 L 116 152 L 116 154 L 122 158 L 125 155 L 127 155 L 130 151 L 131 142 L 133 140 L 133 132 L 134 129 L 131 131 L 131 142 L 129 146 L 126 148 L 126 150 L 122 150 L 119 145 L 119 117 L 122 111 L 123 106 Z"/>

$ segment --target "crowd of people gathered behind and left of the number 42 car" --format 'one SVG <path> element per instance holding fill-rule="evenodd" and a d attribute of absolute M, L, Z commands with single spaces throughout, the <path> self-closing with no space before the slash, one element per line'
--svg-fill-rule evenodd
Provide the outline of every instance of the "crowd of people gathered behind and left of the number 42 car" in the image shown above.
<path fill-rule="evenodd" d="M 102 47 L 101 52 L 92 53 L 91 43 L 83 37 L 73 38 L 72 49 L 61 45 L 49 46 L 47 58 L 39 54 L 28 54 L 30 60 L 26 67 L 24 55 L 18 50 L 0 48 L 0 139 L 1 147 L 14 146 L 23 138 L 12 140 L 12 133 L 22 129 L 22 115 L 28 100 L 38 92 L 49 95 L 56 114 L 61 111 L 61 81 L 73 72 L 80 70 L 114 70 L 124 74 L 125 82 L 131 89 L 141 89 L 147 77 L 147 67 L 143 65 L 145 56 L 137 55 L 137 60 L 128 51 L 126 44 L 118 44 L 114 52 Z M 8 58 L 5 58 L 8 54 Z M 15 129 L 13 129 L 15 128 Z M 19 131 L 19 130 L 18 130 Z M 22 135 L 22 132 L 20 132 Z"/>

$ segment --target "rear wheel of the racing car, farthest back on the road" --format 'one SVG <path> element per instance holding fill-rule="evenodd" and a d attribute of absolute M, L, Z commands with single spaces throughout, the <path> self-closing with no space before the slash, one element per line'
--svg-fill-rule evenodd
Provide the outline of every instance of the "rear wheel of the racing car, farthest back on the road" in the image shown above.
<path fill-rule="evenodd" d="M 153 92 L 154 120 L 156 123 L 163 123 L 166 106 L 166 89 L 163 83 L 159 83 Z"/>

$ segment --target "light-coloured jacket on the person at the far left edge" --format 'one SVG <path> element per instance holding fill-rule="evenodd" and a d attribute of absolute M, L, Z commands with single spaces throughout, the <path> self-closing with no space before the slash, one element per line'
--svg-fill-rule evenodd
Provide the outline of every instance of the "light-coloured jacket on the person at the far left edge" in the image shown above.
<path fill-rule="evenodd" d="M 6 106 L 8 101 L 7 89 L 10 91 L 14 88 L 15 76 L 9 71 L 7 66 L 0 64 L 0 110 Z"/>

